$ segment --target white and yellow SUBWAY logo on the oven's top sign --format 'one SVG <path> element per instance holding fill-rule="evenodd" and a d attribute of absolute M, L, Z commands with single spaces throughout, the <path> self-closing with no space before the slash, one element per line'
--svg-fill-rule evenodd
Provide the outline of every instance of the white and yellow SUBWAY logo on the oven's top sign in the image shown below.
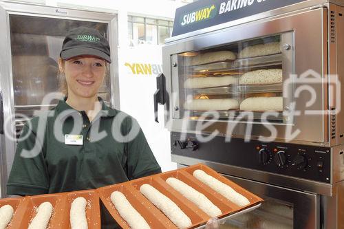
<path fill-rule="evenodd" d="M 197 11 L 185 14 L 180 20 L 180 25 L 190 25 L 199 21 L 206 21 L 216 16 L 216 6 L 211 5 Z"/>

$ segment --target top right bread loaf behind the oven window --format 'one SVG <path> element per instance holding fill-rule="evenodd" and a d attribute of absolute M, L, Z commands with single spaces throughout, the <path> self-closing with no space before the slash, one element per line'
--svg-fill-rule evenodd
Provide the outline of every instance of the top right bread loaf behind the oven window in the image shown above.
<path fill-rule="evenodd" d="M 239 58 L 249 58 L 255 56 L 268 56 L 272 54 L 277 54 L 281 52 L 281 43 L 272 42 L 266 43 L 264 45 L 252 45 L 245 47 L 244 50 L 239 52 Z"/>

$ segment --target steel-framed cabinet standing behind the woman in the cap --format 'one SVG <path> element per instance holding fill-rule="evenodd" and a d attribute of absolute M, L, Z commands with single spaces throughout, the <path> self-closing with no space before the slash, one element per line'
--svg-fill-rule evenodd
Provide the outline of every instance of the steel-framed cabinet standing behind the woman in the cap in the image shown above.
<path fill-rule="evenodd" d="M 23 125 L 61 99 L 58 57 L 67 31 L 79 26 L 95 28 L 109 40 L 113 62 L 99 96 L 119 108 L 116 14 L 0 1 L 0 197 L 6 197 Z"/>

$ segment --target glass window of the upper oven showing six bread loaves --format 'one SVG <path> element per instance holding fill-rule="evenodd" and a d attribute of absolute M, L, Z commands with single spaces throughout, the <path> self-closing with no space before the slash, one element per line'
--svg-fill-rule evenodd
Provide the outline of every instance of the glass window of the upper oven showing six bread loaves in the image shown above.
<path fill-rule="evenodd" d="M 292 37 L 293 32 L 284 32 L 175 54 L 180 67 L 172 85 L 180 96 L 174 118 L 182 113 L 182 119 L 204 119 L 204 112 L 216 111 L 219 120 L 228 120 L 252 111 L 251 121 L 286 123 L 282 111 L 293 98 L 283 102 L 283 78 L 293 72 Z M 264 111 L 271 113 L 263 116 Z"/>

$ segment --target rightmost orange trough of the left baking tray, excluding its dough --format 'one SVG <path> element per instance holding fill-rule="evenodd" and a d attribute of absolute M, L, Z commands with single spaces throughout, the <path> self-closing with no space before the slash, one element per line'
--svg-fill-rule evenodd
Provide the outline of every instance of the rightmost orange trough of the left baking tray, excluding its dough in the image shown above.
<path fill-rule="evenodd" d="M 65 214 L 63 216 L 63 228 L 71 228 L 69 213 L 72 206 L 72 202 L 77 197 L 84 197 L 87 201 L 86 205 L 86 219 L 89 229 L 100 229 L 100 205 L 99 205 L 99 195 L 96 190 L 81 190 L 70 193 L 63 193 L 67 197 L 67 202 L 65 205 Z"/>

